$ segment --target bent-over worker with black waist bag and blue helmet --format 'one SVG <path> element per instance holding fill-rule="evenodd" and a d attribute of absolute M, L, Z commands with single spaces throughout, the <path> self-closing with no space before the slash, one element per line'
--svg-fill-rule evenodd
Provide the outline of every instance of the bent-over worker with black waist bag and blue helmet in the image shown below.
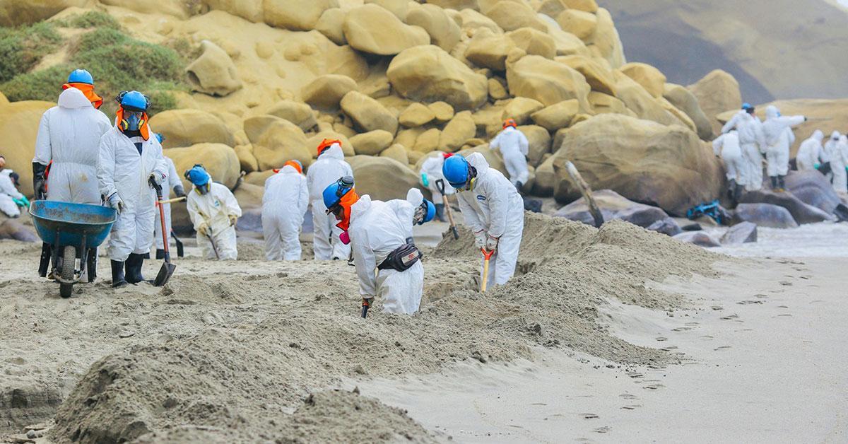
<path fill-rule="evenodd" d="M 424 267 L 412 240 L 412 225 L 432 220 L 436 213 L 435 206 L 420 194 L 408 196 L 413 202 L 371 200 L 367 194 L 356 194 L 353 177 L 342 177 L 324 189 L 326 211 L 336 216 L 343 230 L 341 239 L 353 251 L 363 316 L 376 296 L 382 298 L 383 312 L 418 311 Z"/>

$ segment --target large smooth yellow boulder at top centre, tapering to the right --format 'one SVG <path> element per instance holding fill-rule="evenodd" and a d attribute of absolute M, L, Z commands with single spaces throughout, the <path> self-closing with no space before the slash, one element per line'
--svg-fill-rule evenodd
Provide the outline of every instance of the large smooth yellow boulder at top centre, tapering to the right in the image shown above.
<path fill-rule="evenodd" d="M 344 19 L 343 30 L 349 45 L 363 53 L 394 55 L 404 49 L 430 43 L 427 31 L 404 24 L 376 4 L 350 9 Z"/>

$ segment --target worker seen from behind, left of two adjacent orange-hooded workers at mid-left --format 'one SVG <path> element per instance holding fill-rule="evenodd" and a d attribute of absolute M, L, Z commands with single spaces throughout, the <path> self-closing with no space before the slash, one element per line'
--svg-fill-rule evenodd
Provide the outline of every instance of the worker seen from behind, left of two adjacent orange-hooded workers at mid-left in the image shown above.
<path fill-rule="evenodd" d="M 300 227 L 310 205 L 303 166 L 289 160 L 282 169 L 265 180 L 262 196 L 262 233 L 265 235 L 265 259 L 300 260 Z"/>

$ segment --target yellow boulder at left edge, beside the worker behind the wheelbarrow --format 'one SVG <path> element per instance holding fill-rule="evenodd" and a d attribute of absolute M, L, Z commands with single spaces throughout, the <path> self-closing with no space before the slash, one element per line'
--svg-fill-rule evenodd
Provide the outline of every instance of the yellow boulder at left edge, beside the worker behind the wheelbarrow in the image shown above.
<path fill-rule="evenodd" d="M 36 100 L 0 104 L 0 155 L 6 158 L 6 167 L 20 175 L 18 189 L 27 196 L 33 194 L 32 157 L 38 124 L 44 111 L 53 106 L 56 104 Z"/>

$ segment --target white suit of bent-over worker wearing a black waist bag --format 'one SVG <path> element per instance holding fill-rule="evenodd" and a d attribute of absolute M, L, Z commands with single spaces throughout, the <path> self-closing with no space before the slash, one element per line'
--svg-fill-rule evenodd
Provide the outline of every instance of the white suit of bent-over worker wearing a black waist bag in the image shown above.
<path fill-rule="evenodd" d="M 406 200 L 371 200 L 365 194 L 350 207 L 350 245 L 363 299 L 379 297 L 383 312 L 412 314 L 424 293 L 424 267 L 416 261 L 409 269 L 375 269 L 389 253 L 412 237 L 415 208 Z"/>

